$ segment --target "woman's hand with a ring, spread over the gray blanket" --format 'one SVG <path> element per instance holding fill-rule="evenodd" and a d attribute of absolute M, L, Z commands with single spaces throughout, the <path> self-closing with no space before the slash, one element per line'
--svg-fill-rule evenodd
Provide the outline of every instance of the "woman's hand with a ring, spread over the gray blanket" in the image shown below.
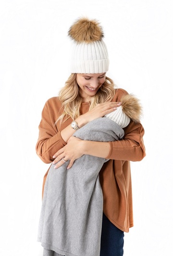
<path fill-rule="evenodd" d="M 67 144 L 54 154 L 53 158 L 55 159 L 52 164 L 56 164 L 54 168 L 57 169 L 66 161 L 69 161 L 67 169 L 70 169 L 74 164 L 74 161 L 83 156 L 82 152 L 82 140 L 72 136 Z"/>

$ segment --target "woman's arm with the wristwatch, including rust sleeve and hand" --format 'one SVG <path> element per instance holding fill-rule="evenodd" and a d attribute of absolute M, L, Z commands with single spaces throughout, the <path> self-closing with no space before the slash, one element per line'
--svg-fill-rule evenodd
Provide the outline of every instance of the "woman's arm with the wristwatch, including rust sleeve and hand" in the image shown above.
<path fill-rule="evenodd" d="M 89 121 L 112 112 L 119 105 L 118 102 L 98 104 L 91 111 L 76 118 L 76 122 L 79 127 L 82 127 Z M 39 136 L 36 144 L 36 152 L 44 163 L 51 163 L 54 160 L 54 154 L 66 145 L 67 141 L 75 132 L 71 128 L 71 118 L 64 123 L 66 127 L 58 130 L 55 122 L 59 116 L 57 113 L 59 113 L 60 109 L 61 103 L 57 97 L 54 97 L 46 102 L 42 111 L 41 122 L 38 126 Z"/>

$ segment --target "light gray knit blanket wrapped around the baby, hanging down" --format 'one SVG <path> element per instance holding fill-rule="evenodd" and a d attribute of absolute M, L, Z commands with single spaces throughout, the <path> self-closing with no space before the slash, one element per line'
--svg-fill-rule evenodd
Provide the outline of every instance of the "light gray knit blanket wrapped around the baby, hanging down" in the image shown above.
<path fill-rule="evenodd" d="M 124 130 L 101 117 L 75 131 L 82 140 L 121 140 Z M 75 150 L 75 145 L 74 145 Z M 50 167 L 38 228 L 38 241 L 46 249 L 64 256 L 99 256 L 103 197 L 99 171 L 108 159 L 83 155 L 67 170 Z"/>

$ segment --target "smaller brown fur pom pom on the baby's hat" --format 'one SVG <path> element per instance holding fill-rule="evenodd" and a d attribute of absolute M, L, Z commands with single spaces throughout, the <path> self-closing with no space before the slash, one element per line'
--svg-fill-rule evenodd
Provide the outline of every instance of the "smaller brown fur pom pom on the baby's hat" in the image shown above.
<path fill-rule="evenodd" d="M 134 122 L 140 122 L 142 106 L 140 101 L 133 95 L 127 94 L 121 98 L 123 112 Z"/>

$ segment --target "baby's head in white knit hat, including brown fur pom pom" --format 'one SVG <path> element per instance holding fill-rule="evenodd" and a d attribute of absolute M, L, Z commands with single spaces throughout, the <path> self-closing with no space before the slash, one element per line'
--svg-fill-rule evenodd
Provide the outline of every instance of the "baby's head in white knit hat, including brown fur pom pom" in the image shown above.
<path fill-rule="evenodd" d="M 106 114 L 105 117 L 110 118 L 115 123 L 125 128 L 130 123 L 130 119 L 139 123 L 142 114 L 142 106 L 139 100 L 132 94 L 124 95 L 121 98 L 121 106 L 110 114 Z"/>

